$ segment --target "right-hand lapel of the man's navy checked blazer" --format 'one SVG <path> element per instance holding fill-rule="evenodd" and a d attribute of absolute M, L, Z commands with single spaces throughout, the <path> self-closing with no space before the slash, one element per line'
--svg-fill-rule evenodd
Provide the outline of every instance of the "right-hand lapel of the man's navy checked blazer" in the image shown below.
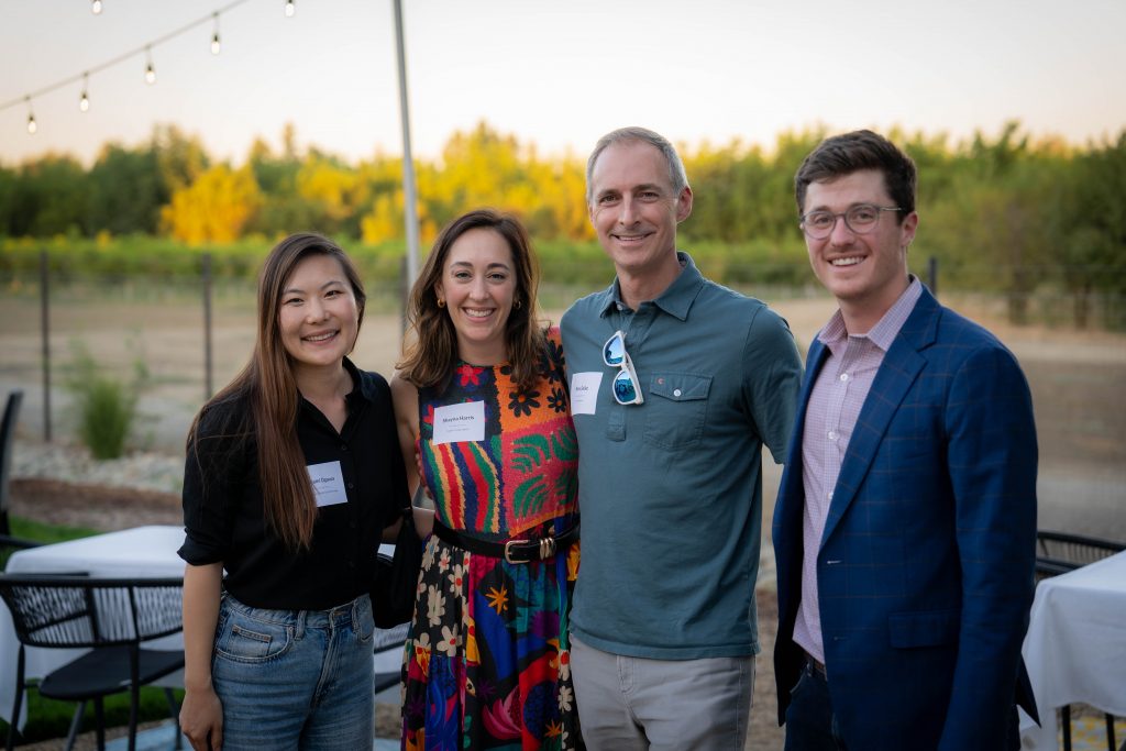
<path fill-rule="evenodd" d="M 856 498 L 892 417 L 927 364 L 919 351 L 933 343 L 940 311 L 938 301 L 923 287 L 922 296 L 892 342 L 892 348 L 884 355 L 852 428 L 852 437 L 833 488 L 833 500 L 829 504 L 825 531 L 821 536 L 822 547 Z"/>

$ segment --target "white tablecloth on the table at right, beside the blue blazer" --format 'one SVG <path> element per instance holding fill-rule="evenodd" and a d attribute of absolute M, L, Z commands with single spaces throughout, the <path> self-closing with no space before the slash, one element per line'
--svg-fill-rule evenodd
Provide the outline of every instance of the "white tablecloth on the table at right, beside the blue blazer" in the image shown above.
<path fill-rule="evenodd" d="M 1024 655 L 1043 727 L 1021 712 L 1021 748 L 1057 749 L 1066 704 L 1126 716 L 1126 552 L 1037 585 Z"/>

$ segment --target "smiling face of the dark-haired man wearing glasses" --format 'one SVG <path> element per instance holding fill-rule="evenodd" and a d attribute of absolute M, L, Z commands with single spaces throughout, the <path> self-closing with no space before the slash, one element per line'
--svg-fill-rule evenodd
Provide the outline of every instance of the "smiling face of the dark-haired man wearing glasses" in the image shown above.
<path fill-rule="evenodd" d="M 857 204 L 893 206 L 883 172 L 860 170 L 832 180 L 811 182 L 802 213 L 847 212 Z M 902 222 L 894 212 L 882 212 L 876 227 L 857 234 L 837 218 L 824 240 L 805 235 L 813 272 L 840 304 L 850 333 L 867 333 L 908 288 L 908 245 L 914 239 L 919 215 Z"/>

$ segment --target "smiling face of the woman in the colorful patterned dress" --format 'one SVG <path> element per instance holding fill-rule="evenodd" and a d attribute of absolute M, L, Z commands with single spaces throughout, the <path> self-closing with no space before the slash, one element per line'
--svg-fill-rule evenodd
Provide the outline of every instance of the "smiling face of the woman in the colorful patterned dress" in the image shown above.
<path fill-rule="evenodd" d="M 504 332 L 516 297 L 516 269 L 499 232 L 476 227 L 455 240 L 435 293 L 446 301 L 463 360 L 498 365 L 508 359 Z"/>

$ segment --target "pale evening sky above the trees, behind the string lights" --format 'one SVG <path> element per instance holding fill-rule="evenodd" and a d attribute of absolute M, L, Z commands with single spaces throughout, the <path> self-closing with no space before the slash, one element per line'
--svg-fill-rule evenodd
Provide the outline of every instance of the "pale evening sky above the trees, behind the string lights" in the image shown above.
<path fill-rule="evenodd" d="M 48 151 L 91 161 L 154 124 L 245 160 L 262 136 L 351 162 L 402 153 L 391 0 L 248 0 L 89 80 L 25 93 L 109 61 L 229 0 L 0 0 L 0 163 Z M 484 119 L 543 154 L 584 157 L 605 132 L 644 125 L 698 145 L 766 146 L 823 124 L 954 138 L 1017 118 L 1073 143 L 1126 127 L 1126 0 L 403 0 L 415 157 Z"/>

